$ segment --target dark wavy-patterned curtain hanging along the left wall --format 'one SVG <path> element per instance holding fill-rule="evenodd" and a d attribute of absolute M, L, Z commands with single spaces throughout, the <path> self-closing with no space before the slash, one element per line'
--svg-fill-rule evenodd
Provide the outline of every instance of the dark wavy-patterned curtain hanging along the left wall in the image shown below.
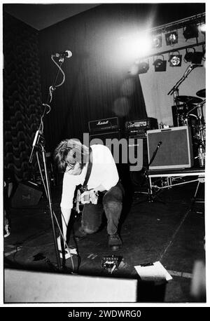
<path fill-rule="evenodd" d="M 38 32 L 3 14 L 4 167 L 18 181 L 30 179 L 29 155 L 41 116 Z"/>

